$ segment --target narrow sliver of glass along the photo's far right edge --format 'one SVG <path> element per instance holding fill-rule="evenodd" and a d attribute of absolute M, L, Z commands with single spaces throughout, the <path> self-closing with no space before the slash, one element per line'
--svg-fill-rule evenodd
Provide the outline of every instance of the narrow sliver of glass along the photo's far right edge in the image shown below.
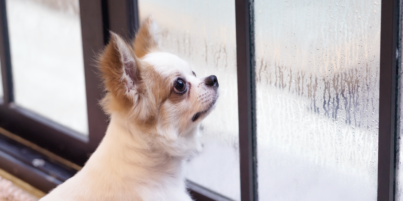
<path fill-rule="evenodd" d="M 399 13 L 399 43 L 397 57 L 397 109 L 396 109 L 396 180 L 395 180 L 395 201 L 403 201 L 403 2 L 400 2 Z"/>

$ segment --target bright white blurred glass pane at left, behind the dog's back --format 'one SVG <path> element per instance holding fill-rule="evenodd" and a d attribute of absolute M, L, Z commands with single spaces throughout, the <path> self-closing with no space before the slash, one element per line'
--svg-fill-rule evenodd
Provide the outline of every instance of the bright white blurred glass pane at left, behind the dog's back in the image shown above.
<path fill-rule="evenodd" d="M 15 103 L 88 135 L 78 0 L 6 0 Z"/>

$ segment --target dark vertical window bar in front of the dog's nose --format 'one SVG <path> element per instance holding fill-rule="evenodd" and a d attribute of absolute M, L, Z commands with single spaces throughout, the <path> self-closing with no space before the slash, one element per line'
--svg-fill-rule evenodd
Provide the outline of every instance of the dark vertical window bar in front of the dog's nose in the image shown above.
<path fill-rule="evenodd" d="M 253 0 L 235 1 L 241 201 L 258 199 Z"/>

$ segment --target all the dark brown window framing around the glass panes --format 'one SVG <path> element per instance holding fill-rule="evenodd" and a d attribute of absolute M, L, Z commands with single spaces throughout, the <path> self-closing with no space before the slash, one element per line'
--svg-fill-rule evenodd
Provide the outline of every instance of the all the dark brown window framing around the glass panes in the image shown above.
<path fill-rule="evenodd" d="M 235 0 L 241 201 L 258 200 L 253 4 L 254 0 Z M 398 17 L 399 4 L 399 0 L 382 0 L 381 4 L 378 201 L 393 201 L 395 196 L 396 53 L 400 33 L 398 23 L 403 20 Z M 104 92 L 100 88 L 98 69 L 94 66 L 96 53 L 108 42 L 109 31 L 130 40 L 139 27 L 137 0 L 80 0 L 80 16 L 88 138 L 12 103 L 14 97 L 6 0 L 0 0 L 0 61 L 4 92 L 4 98 L 0 100 L 0 168 L 12 172 L 42 191 L 52 189 L 63 182 L 64 178 L 73 175 L 79 170 L 77 165 L 83 166 L 100 143 L 108 118 L 98 105 Z M 48 158 L 50 163 L 54 160 L 59 162 L 54 162 L 54 166 L 48 167 L 48 170 L 38 170 L 29 165 L 29 160 L 25 161 L 25 156 L 6 153 L 4 147 L 28 149 L 32 152 L 32 157 Z M 64 159 L 58 160 L 57 157 L 77 165 L 63 162 Z M 46 180 L 52 168 L 57 169 L 59 166 L 66 171 L 60 170 L 60 174 L 55 174 L 57 181 Z M 190 181 L 188 188 L 197 200 L 230 200 Z"/>

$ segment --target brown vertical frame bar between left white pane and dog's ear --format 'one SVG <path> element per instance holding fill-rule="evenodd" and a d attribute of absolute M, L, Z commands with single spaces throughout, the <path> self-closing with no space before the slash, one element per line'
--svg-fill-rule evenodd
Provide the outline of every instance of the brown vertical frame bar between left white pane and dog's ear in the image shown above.
<path fill-rule="evenodd" d="M 87 157 L 101 142 L 105 135 L 108 117 L 100 108 L 99 101 L 103 96 L 100 88 L 102 81 L 99 78 L 96 66 L 97 53 L 104 48 L 104 12 L 99 0 L 80 0 L 81 33 L 83 38 L 85 90 L 87 93 L 87 112 L 89 146 Z"/>

